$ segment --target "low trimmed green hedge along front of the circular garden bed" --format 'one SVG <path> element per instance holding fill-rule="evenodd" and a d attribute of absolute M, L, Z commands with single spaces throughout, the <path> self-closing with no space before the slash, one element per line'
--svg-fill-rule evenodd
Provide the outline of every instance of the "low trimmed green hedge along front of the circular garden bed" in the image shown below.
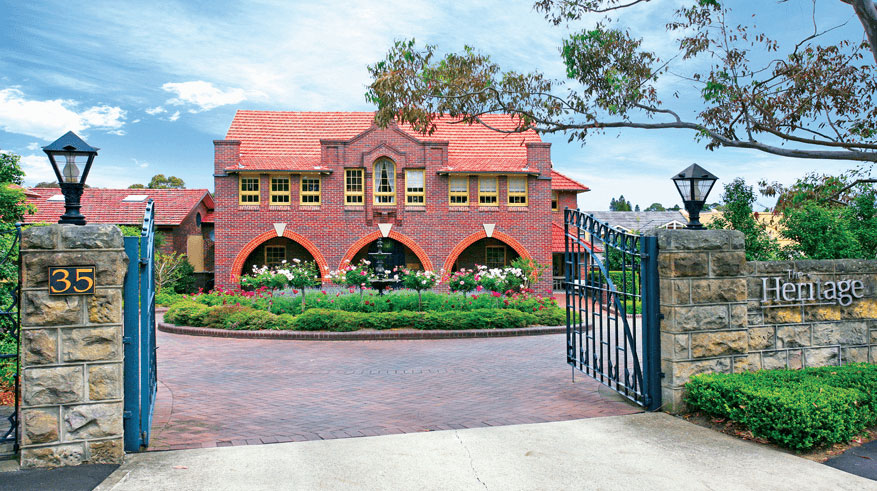
<path fill-rule="evenodd" d="M 359 329 L 513 329 L 530 325 L 556 325 L 557 311 L 521 312 L 516 309 L 477 309 L 433 312 L 347 312 L 308 309 L 296 316 L 272 314 L 243 305 L 208 307 L 192 301 L 172 305 L 165 320 L 194 327 L 216 329 L 284 329 L 299 331 L 357 331 Z M 561 321 L 562 322 L 562 321 Z"/>

